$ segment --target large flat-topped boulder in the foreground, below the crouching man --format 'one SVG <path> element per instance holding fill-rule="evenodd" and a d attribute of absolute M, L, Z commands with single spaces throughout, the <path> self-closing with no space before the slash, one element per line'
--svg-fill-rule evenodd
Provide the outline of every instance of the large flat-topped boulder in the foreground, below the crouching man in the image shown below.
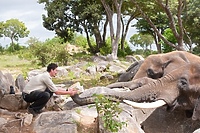
<path fill-rule="evenodd" d="M 49 111 L 40 114 L 33 123 L 34 133 L 78 133 L 72 111 Z"/>

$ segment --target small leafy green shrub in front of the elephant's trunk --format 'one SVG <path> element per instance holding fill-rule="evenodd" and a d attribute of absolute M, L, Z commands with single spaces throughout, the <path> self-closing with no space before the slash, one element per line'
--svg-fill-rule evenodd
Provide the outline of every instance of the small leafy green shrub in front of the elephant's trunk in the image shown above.
<path fill-rule="evenodd" d="M 100 114 L 104 127 L 108 131 L 118 132 L 123 125 L 126 125 L 126 122 L 118 122 L 116 120 L 122 112 L 122 109 L 118 107 L 119 102 L 113 102 L 108 97 L 100 94 L 94 94 L 94 97 L 97 112 Z"/>

